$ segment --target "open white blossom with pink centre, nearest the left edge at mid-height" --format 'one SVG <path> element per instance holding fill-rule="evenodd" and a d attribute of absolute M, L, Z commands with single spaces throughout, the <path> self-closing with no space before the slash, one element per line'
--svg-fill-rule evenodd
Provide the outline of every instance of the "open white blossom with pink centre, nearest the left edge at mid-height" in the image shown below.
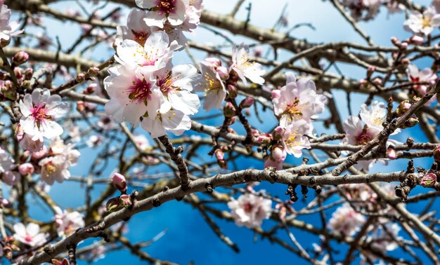
<path fill-rule="evenodd" d="M 32 141 L 43 142 L 43 137 L 52 139 L 63 133 L 63 127 L 56 123 L 67 112 L 67 103 L 60 102 L 59 95 L 51 95 L 47 88 L 36 88 L 32 95 L 26 94 L 20 100 L 22 130 L 32 136 Z"/>

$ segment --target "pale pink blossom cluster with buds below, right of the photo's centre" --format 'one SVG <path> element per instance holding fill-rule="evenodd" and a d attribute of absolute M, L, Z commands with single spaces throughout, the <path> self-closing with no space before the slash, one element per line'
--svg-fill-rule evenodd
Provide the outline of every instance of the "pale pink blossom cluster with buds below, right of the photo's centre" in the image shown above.
<path fill-rule="evenodd" d="M 272 135 L 260 135 L 257 141 L 271 150 L 266 157 L 265 167 L 277 170 L 283 168 L 287 154 L 299 158 L 302 149 L 310 148 L 309 138 L 313 132 L 313 118 L 323 113 L 327 97 L 316 92 L 316 86 L 310 79 L 297 80 L 292 73 L 286 73 L 286 85 L 272 90 L 273 111 L 280 125 Z M 275 142 L 273 141 L 275 140 Z"/>

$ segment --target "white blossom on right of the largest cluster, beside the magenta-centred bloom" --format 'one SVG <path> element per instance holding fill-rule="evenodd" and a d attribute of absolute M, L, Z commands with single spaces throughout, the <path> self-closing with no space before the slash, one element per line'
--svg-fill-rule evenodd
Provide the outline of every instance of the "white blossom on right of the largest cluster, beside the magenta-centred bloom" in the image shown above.
<path fill-rule="evenodd" d="M 191 93 L 200 83 L 200 74 L 190 64 L 168 66 L 155 72 L 156 86 L 164 95 L 161 111 L 176 109 L 183 114 L 193 115 L 199 111 L 198 95 Z"/>

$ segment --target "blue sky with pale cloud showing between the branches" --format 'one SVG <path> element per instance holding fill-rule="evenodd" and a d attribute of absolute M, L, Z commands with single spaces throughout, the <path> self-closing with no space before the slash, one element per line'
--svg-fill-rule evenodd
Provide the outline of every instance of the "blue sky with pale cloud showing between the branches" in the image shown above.
<path fill-rule="evenodd" d="M 216 11 L 218 13 L 228 13 L 233 8 L 235 0 L 205 0 L 205 7 L 209 11 Z M 249 1 L 246 1 L 247 3 Z M 272 27 L 274 22 L 278 19 L 280 11 L 283 6 L 288 3 L 287 14 L 290 22 L 290 26 L 302 22 L 311 22 L 316 30 L 312 30 L 309 27 L 301 27 L 292 32 L 292 36 L 298 39 L 307 39 L 311 42 L 327 42 L 327 41 L 354 41 L 364 43 L 356 32 L 349 26 L 349 24 L 339 15 L 339 13 L 332 7 L 328 1 L 321 0 L 293 0 L 293 1 L 253 1 L 252 14 L 250 22 L 254 25 L 260 27 Z M 428 1 L 418 1 L 420 4 L 426 4 Z M 245 6 L 240 9 L 236 18 L 240 20 L 245 20 L 247 15 L 245 11 Z M 63 2 L 63 4 L 58 4 L 53 6 L 59 8 L 60 10 L 65 10 L 67 6 L 75 6 L 74 1 Z M 104 12 L 105 13 L 105 12 Z M 406 38 L 410 36 L 408 32 L 403 31 L 403 21 L 404 14 L 388 15 L 387 11 L 382 9 L 377 19 L 363 23 L 360 25 L 363 27 L 365 32 L 373 37 L 375 43 L 389 46 L 389 39 L 391 36 L 398 36 L 399 39 Z M 70 46 L 70 43 L 77 39 L 77 33 L 79 30 L 77 27 L 73 27 L 72 23 L 65 23 L 64 25 L 56 24 L 53 20 L 46 20 L 45 25 L 48 27 L 48 33 L 51 36 L 60 36 L 60 41 L 63 46 Z M 69 32 L 66 34 L 65 32 Z M 254 41 L 232 36 L 228 32 L 225 32 L 228 36 L 233 38 L 237 43 L 245 41 L 247 43 L 254 43 Z M 207 32 L 205 29 L 198 29 L 194 36 L 189 36 L 193 41 L 198 43 L 222 43 L 222 40 L 218 36 Z M 95 50 L 93 53 L 87 54 L 87 57 L 91 57 L 95 60 L 105 60 L 110 55 L 112 55 L 112 50 L 108 48 L 100 48 Z M 204 53 L 194 52 L 194 55 L 202 60 L 205 56 Z M 291 57 L 289 53 L 280 52 L 279 60 L 287 59 Z M 189 63 L 190 60 L 184 52 L 178 53 L 174 56 L 174 64 Z M 429 62 L 418 62 L 419 67 L 427 67 Z M 358 67 L 353 67 L 352 65 L 339 64 L 339 68 L 347 76 L 353 78 L 361 78 L 365 74 Z M 334 95 L 338 99 L 339 111 L 342 114 L 342 118 L 347 118 L 348 114 L 346 111 L 347 102 L 345 101 L 345 94 L 342 92 L 337 92 Z M 339 100 L 341 99 L 341 100 Z M 351 104 L 352 111 L 357 114 L 361 103 L 365 100 L 363 95 L 352 95 Z M 204 113 L 200 113 L 203 116 Z M 323 114 L 326 116 L 327 114 Z M 256 118 L 251 118 L 252 124 L 256 125 L 260 130 L 269 130 L 276 125 L 276 119 L 273 114 L 267 113 L 263 116 L 266 123 L 261 124 Z M 221 125 L 221 119 L 212 119 L 209 121 L 210 125 Z M 326 132 L 331 133 L 334 130 L 328 132 L 323 128 L 321 123 L 315 124 L 316 131 L 318 133 Z M 138 133 L 144 133 L 141 130 L 136 130 Z M 192 132 L 190 132 L 192 133 Z M 416 142 L 426 141 L 425 137 L 420 134 L 418 128 L 413 128 L 410 130 L 405 130 L 399 135 L 399 140 L 404 141 L 406 137 L 411 136 L 415 138 Z M 98 152 L 99 149 L 85 150 L 83 152 L 82 158 L 80 159 L 79 165 L 72 168 L 72 175 L 84 176 L 86 174 L 85 170 L 89 168 L 90 160 Z M 298 159 L 289 158 L 290 163 L 300 163 Z M 113 161 L 115 163 L 115 161 Z M 429 165 L 432 163 L 429 159 L 418 161 L 418 166 Z M 245 168 L 262 168 L 263 163 L 261 161 L 253 161 L 248 158 L 240 158 L 238 160 L 239 169 Z M 387 167 L 387 171 L 391 170 L 401 170 L 406 166 L 406 161 L 398 161 L 393 163 L 392 166 Z M 381 166 L 376 166 L 373 171 L 385 170 Z M 103 172 L 103 177 L 108 177 L 112 173 L 112 168 L 109 167 Z M 96 186 L 93 190 L 93 198 L 97 198 L 100 192 L 105 186 Z M 283 195 L 285 192 L 285 186 L 283 185 L 271 185 L 271 184 L 261 184 L 258 189 L 266 189 L 272 194 L 278 194 L 280 198 L 285 198 Z M 416 189 L 415 192 L 422 192 L 422 189 Z M 64 182 L 63 184 L 55 184 L 51 189 L 51 196 L 55 198 L 56 201 L 60 203 L 63 208 L 75 208 L 84 203 L 84 186 L 81 186 L 75 182 Z M 310 192 L 309 194 L 312 194 Z M 311 195 L 313 198 L 313 195 Z M 41 206 L 35 201 L 30 201 L 32 203 L 30 207 L 30 214 L 34 218 L 41 219 L 51 219 L 50 212 L 48 210 L 41 210 Z M 301 209 L 304 203 L 299 201 L 294 205 L 296 210 Z M 411 205 L 410 210 L 415 208 L 420 208 L 421 205 Z M 226 210 L 226 208 L 223 208 Z M 326 212 L 328 217 L 330 212 Z M 214 218 L 215 219 L 215 218 Z M 302 217 L 302 220 L 310 223 L 320 225 L 316 215 Z M 144 250 L 148 252 L 153 257 L 158 259 L 166 259 L 169 261 L 174 261 L 181 264 L 188 264 L 190 261 L 194 261 L 195 264 L 273 264 L 276 263 L 292 263 L 295 264 L 306 264 L 302 259 L 297 259 L 297 257 L 282 249 L 278 245 L 271 244 L 267 239 L 257 237 L 257 241 L 254 241 L 254 234 L 244 228 L 235 226 L 231 222 L 224 222 L 218 220 L 218 224 L 221 226 L 222 231 L 229 236 L 231 240 L 238 244 L 241 252 L 236 254 L 229 247 L 217 238 L 209 226 L 205 223 L 202 217 L 198 214 L 198 211 L 191 208 L 183 202 L 170 202 L 162 205 L 160 208 L 155 208 L 150 212 L 143 212 L 140 215 L 136 215 L 129 221 L 129 232 L 127 237 L 136 243 L 141 240 L 149 240 L 153 238 L 161 231 L 167 230 L 167 233 L 156 243 L 150 247 L 146 247 Z M 270 221 L 264 223 L 263 228 L 271 227 L 273 223 Z M 311 248 L 311 243 L 316 242 L 316 236 L 311 236 L 309 233 L 304 233 L 303 231 L 292 230 L 300 243 L 306 248 Z M 278 231 L 276 236 L 280 238 L 285 238 L 286 235 L 283 231 Z M 93 242 L 93 240 L 88 240 L 86 243 Z M 335 245 L 335 247 L 340 247 Z M 397 253 L 400 254 L 400 253 Z M 83 264 L 79 262 L 79 264 Z M 134 257 L 127 253 L 127 251 L 112 252 L 107 255 L 105 259 L 96 261 L 96 264 L 143 264 L 137 257 Z"/>

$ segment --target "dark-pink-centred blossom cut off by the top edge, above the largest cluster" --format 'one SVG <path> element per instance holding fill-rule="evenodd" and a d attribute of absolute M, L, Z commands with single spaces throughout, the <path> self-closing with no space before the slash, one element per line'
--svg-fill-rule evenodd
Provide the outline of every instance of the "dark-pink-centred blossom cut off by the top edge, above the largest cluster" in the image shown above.
<path fill-rule="evenodd" d="M 148 8 L 144 19 L 148 27 L 164 27 L 165 22 L 173 26 L 181 25 L 185 20 L 186 6 L 183 0 L 136 0 L 140 8 Z"/>

